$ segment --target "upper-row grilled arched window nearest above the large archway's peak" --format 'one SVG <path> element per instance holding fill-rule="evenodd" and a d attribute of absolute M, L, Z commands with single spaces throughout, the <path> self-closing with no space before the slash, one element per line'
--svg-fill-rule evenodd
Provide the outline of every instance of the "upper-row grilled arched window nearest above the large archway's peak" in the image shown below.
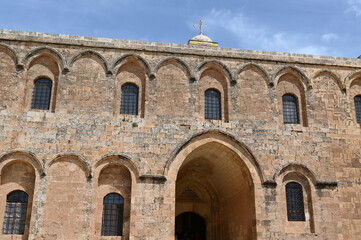
<path fill-rule="evenodd" d="M 204 115 L 205 119 L 222 119 L 221 93 L 215 89 L 208 89 L 204 93 Z"/>

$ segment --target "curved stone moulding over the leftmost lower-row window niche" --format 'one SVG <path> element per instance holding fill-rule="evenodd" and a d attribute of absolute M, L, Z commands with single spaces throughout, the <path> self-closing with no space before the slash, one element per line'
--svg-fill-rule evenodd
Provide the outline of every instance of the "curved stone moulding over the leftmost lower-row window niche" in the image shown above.
<path fill-rule="evenodd" d="M 7 164 L 8 162 L 14 160 L 28 162 L 34 169 L 36 169 L 39 176 L 44 175 L 44 166 L 34 153 L 23 150 L 15 150 L 5 153 L 0 156 L 0 165 L 3 163 Z"/>

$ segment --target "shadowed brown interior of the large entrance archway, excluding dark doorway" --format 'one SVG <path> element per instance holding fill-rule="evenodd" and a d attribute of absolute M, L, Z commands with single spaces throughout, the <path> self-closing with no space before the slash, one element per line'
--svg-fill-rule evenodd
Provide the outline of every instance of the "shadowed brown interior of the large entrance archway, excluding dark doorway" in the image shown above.
<path fill-rule="evenodd" d="M 181 164 L 175 215 L 185 212 L 205 220 L 207 240 L 256 239 L 251 173 L 241 157 L 225 144 L 208 141 L 198 145 Z"/>

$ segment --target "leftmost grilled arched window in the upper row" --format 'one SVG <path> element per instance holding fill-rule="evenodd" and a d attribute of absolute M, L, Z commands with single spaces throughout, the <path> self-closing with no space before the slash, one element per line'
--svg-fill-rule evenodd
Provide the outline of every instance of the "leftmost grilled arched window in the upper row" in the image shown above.
<path fill-rule="evenodd" d="M 40 78 L 35 80 L 31 99 L 32 109 L 49 110 L 52 86 L 53 82 L 50 79 Z"/>

